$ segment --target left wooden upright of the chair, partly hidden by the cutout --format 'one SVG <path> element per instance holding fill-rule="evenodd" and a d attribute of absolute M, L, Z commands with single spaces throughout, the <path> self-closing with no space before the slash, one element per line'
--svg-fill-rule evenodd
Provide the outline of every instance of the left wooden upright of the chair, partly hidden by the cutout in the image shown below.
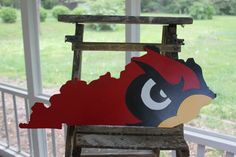
<path fill-rule="evenodd" d="M 76 40 L 72 43 L 72 47 L 76 44 L 80 44 L 83 41 L 83 33 L 84 33 L 84 25 L 76 23 L 76 29 L 75 29 L 75 38 Z M 82 69 L 82 51 L 77 49 L 74 50 L 74 56 L 73 56 L 73 67 L 72 67 L 72 79 L 80 78 L 81 77 L 81 69 Z M 74 136 L 75 136 L 75 126 L 68 126 L 67 127 L 67 135 L 66 135 L 66 151 L 65 156 L 71 157 L 78 156 L 77 154 L 80 153 L 80 151 L 75 151 L 76 148 L 74 148 Z"/>

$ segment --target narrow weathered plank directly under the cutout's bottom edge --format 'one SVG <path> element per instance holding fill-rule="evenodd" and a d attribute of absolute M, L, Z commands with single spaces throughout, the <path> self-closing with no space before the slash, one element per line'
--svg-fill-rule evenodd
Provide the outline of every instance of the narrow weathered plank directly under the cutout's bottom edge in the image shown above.
<path fill-rule="evenodd" d="M 183 135 L 182 125 L 175 128 L 135 127 L 135 126 L 79 126 L 77 133 L 109 135 Z"/>

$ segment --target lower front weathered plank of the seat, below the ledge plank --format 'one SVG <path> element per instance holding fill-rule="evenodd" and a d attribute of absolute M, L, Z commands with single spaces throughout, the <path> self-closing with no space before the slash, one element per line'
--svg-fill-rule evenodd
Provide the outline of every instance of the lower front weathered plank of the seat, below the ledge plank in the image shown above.
<path fill-rule="evenodd" d="M 133 135 L 97 135 L 76 134 L 77 146 L 83 148 L 116 148 L 137 150 L 186 149 L 182 136 L 133 136 Z"/>

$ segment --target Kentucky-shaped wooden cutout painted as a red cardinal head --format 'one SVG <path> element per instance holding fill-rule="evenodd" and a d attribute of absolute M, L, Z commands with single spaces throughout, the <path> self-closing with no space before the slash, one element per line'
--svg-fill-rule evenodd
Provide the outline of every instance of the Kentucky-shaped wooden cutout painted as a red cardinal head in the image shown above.
<path fill-rule="evenodd" d="M 157 49 L 145 50 L 118 79 L 108 72 L 89 84 L 68 81 L 50 98 L 50 107 L 35 103 L 30 121 L 20 128 L 62 128 L 63 123 L 174 127 L 215 98 L 193 59 L 173 60 Z"/>

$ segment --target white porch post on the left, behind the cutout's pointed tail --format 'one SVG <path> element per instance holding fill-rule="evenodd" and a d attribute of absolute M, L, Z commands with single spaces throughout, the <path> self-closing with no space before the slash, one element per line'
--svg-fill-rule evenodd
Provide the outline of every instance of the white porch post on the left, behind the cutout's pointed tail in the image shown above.
<path fill-rule="evenodd" d="M 39 54 L 39 12 L 36 0 L 21 0 L 21 17 L 29 107 L 42 93 Z M 47 157 L 46 131 L 31 129 L 34 157 Z"/>

